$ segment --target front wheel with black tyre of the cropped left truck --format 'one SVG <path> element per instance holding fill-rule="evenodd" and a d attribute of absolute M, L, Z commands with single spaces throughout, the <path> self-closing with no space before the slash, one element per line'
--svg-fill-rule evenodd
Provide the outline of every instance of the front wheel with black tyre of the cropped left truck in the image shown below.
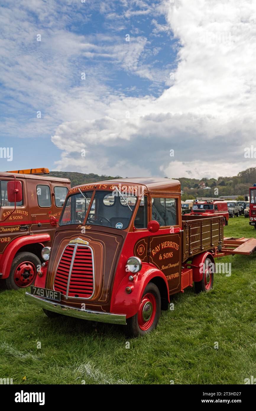
<path fill-rule="evenodd" d="M 9 290 L 18 290 L 34 284 L 37 268 L 41 265 L 41 261 L 35 254 L 18 253 L 12 261 L 9 277 L 4 280 L 5 287 Z"/>

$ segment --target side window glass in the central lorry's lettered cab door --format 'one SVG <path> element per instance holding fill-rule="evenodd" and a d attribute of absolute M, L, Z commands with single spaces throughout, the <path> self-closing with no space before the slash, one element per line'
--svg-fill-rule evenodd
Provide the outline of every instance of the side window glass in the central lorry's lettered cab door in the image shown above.
<path fill-rule="evenodd" d="M 177 225 L 177 199 L 153 197 L 152 220 L 162 227 Z"/>

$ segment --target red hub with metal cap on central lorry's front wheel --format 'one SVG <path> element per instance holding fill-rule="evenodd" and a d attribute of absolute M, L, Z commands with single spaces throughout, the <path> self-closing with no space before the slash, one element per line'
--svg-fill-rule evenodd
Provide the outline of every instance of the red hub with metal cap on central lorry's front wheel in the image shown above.
<path fill-rule="evenodd" d="M 152 326 L 156 315 L 156 308 L 155 296 L 152 293 L 145 294 L 138 309 L 138 326 L 141 330 L 148 330 Z"/>

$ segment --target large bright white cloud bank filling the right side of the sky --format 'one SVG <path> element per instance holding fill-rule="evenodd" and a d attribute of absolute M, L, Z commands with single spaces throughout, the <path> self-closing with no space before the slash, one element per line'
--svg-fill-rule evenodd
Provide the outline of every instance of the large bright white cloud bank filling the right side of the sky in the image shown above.
<path fill-rule="evenodd" d="M 244 147 L 255 139 L 256 5 L 175 0 L 162 7 L 182 45 L 173 85 L 158 99 L 112 96 L 97 123 L 65 123 L 62 132 L 58 127 L 53 142 L 71 141 L 73 150 L 65 150 L 58 169 L 68 158 L 76 163 L 80 144 L 90 162 L 77 160 L 79 168 L 106 174 L 125 175 L 128 169 L 131 175 L 136 167 L 138 175 L 189 176 L 190 170 L 193 177 L 217 177 L 254 165 L 244 159 Z"/>

